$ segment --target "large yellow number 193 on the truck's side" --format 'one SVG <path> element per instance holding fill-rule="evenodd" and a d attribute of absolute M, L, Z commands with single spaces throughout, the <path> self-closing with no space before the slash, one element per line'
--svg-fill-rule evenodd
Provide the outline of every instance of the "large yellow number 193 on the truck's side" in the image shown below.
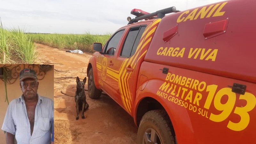
<path fill-rule="evenodd" d="M 219 115 L 215 115 L 211 113 L 209 119 L 214 122 L 222 122 L 228 118 L 228 116 L 230 115 L 230 113 L 232 112 L 235 106 L 236 93 L 232 92 L 231 88 L 222 88 L 215 94 L 217 87 L 218 85 L 215 85 L 215 84 L 207 86 L 206 92 L 209 92 L 209 94 L 205 101 L 204 108 L 209 109 L 212 103 L 212 100 L 214 98 L 213 100 L 214 107 L 217 110 L 222 112 Z M 215 97 L 214 97 L 214 94 L 215 94 Z M 228 96 L 228 100 L 225 104 L 222 104 L 220 100 L 224 95 Z M 248 126 L 250 122 L 250 116 L 248 112 L 251 111 L 256 104 L 255 96 L 249 92 L 245 92 L 244 95 L 239 95 L 239 100 L 246 100 L 246 105 L 244 107 L 236 107 L 234 110 L 234 113 L 239 115 L 241 117 L 241 120 L 238 123 L 234 123 L 229 120 L 227 125 L 229 129 L 234 131 L 242 131 Z"/>

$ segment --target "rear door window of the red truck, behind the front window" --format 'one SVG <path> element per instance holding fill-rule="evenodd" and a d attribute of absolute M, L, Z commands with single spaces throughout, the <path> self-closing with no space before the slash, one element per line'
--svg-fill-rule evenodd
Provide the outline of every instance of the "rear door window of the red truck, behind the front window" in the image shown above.
<path fill-rule="evenodd" d="M 140 38 L 145 30 L 146 26 L 131 28 L 125 39 L 124 46 L 121 52 L 121 56 L 130 57 L 132 56 L 139 44 Z"/>

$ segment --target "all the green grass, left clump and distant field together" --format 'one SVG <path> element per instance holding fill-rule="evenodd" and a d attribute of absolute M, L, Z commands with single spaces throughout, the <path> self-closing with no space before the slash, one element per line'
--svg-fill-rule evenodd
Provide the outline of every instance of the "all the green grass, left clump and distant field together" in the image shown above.
<path fill-rule="evenodd" d="M 1 19 L 0 19 L 1 21 Z M 36 45 L 45 44 L 59 49 L 92 52 L 92 44 L 105 44 L 111 34 L 33 34 L 20 28 L 4 29 L 0 25 L 0 64 L 28 63 L 36 60 Z"/>

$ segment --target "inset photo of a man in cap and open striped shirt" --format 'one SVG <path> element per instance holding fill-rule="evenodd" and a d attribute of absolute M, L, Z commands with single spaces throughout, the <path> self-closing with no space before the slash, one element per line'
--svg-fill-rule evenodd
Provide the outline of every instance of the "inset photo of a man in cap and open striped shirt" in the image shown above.
<path fill-rule="evenodd" d="M 0 64 L 0 139 L 53 143 L 54 66 Z"/>

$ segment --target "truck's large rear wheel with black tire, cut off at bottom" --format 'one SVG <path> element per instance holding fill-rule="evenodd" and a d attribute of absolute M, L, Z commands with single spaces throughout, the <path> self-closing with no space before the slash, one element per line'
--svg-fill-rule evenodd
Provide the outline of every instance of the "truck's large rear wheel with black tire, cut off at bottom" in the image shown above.
<path fill-rule="evenodd" d="M 137 144 L 176 144 L 174 130 L 164 110 L 151 110 L 140 121 Z"/>

